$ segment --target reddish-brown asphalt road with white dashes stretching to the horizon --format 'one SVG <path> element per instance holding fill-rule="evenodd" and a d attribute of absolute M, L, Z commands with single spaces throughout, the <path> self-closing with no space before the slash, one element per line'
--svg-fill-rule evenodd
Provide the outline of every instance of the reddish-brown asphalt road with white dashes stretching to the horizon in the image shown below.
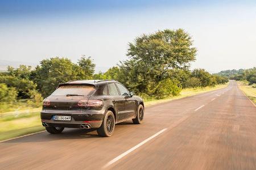
<path fill-rule="evenodd" d="M 0 143 L 0 169 L 256 169 L 256 107 L 236 82 L 146 108 L 144 124 Z"/>

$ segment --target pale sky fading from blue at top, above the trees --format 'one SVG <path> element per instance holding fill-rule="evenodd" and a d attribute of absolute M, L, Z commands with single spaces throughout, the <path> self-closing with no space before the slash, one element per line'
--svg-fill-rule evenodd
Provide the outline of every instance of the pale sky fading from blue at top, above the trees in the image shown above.
<path fill-rule="evenodd" d="M 92 56 L 105 71 L 142 33 L 183 28 L 211 73 L 256 66 L 254 1 L 0 1 L 0 58 Z"/>

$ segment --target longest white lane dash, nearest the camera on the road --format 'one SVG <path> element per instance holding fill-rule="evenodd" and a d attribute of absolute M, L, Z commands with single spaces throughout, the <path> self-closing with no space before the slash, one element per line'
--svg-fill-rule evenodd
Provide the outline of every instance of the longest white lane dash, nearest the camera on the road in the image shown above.
<path fill-rule="evenodd" d="M 103 168 L 107 168 L 109 167 L 109 165 L 112 165 L 113 163 L 117 162 L 119 159 L 123 158 L 123 156 L 126 156 L 127 154 L 129 154 L 130 152 L 134 151 L 135 149 L 137 149 L 138 147 L 142 146 L 143 144 L 147 143 L 148 141 L 150 141 L 151 139 L 157 137 L 159 134 L 163 133 L 164 131 L 166 131 L 167 128 L 164 128 L 163 130 L 158 131 L 158 133 L 152 135 L 151 137 L 145 139 L 144 141 L 142 141 L 141 143 L 139 143 L 138 145 L 130 148 L 129 150 L 127 150 L 126 152 L 123 152 L 121 155 L 115 157 L 114 159 L 110 160 L 110 162 L 108 162 Z"/>

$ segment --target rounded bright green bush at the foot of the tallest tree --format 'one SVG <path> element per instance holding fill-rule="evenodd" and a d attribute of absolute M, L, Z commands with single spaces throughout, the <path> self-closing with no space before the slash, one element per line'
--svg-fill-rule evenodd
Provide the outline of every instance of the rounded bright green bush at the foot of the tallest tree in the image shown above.
<path fill-rule="evenodd" d="M 177 80 L 164 79 L 158 83 L 155 90 L 156 99 L 177 96 L 180 94 L 181 87 Z"/>

